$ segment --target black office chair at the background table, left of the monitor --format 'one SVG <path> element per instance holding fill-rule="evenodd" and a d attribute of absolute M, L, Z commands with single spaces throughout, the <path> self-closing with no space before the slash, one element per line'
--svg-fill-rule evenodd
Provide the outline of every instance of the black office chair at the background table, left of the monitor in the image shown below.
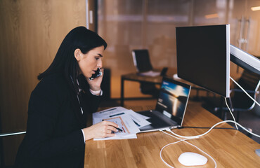
<path fill-rule="evenodd" d="M 148 71 L 156 71 L 152 68 L 150 62 L 149 52 L 146 49 L 143 50 L 133 50 L 132 51 L 134 66 L 136 66 L 137 73 L 143 73 Z M 159 75 L 164 76 L 167 73 L 167 68 L 162 69 Z M 154 83 L 140 82 L 140 90 L 143 94 L 150 94 L 152 97 L 158 97 L 159 89 Z"/>

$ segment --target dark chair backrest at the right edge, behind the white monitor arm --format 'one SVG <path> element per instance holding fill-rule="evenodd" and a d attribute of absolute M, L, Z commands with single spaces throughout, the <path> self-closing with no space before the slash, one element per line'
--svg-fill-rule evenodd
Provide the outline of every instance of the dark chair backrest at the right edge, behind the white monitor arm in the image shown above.
<path fill-rule="evenodd" d="M 245 89 L 254 92 L 248 92 L 251 97 L 256 99 L 256 92 L 259 90 L 260 76 L 257 73 L 252 73 L 249 71 L 243 71 L 242 76 L 238 80 L 238 83 Z M 240 89 L 240 87 L 236 87 Z M 254 107 L 254 102 L 252 99 L 247 97 L 244 92 L 235 92 L 233 97 L 233 105 L 242 109 L 252 109 Z"/>

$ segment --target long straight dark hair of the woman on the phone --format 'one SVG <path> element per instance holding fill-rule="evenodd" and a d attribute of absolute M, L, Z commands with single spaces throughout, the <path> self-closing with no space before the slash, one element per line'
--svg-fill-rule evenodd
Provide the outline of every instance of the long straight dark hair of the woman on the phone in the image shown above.
<path fill-rule="evenodd" d="M 80 70 L 77 59 L 74 57 L 74 50 L 79 48 L 83 54 L 86 54 L 93 48 L 102 45 L 104 48 L 107 47 L 105 40 L 95 32 L 86 29 L 86 27 L 72 29 L 60 44 L 60 48 L 51 65 L 46 71 L 39 74 L 38 79 L 41 80 L 52 73 L 63 73 L 69 85 L 78 92 L 79 85 L 77 85 L 77 77 Z"/>

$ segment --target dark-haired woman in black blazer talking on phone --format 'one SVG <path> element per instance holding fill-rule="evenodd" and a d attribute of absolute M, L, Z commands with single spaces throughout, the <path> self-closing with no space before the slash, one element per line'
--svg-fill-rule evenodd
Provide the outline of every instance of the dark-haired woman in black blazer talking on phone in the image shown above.
<path fill-rule="evenodd" d="M 65 36 L 32 91 L 27 133 L 15 167 L 83 167 L 86 140 L 115 136 L 115 123 L 86 127 L 86 113 L 98 109 L 103 76 L 89 78 L 98 68 L 103 72 L 106 47 L 103 38 L 86 27 L 76 27 Z"/>

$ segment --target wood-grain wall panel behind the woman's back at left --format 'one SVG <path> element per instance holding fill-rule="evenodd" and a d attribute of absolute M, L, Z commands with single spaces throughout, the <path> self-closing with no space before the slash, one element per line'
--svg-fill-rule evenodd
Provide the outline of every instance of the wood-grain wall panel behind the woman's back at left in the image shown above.
<path fill-rule="evenodd" d="M 85 0 L 0 0 L 0 111 L 2 132 L 26 129 L 30 93 L 65 35 L 86 26 Z M 4 141 L 11 165 L 23 136 Z"/>

